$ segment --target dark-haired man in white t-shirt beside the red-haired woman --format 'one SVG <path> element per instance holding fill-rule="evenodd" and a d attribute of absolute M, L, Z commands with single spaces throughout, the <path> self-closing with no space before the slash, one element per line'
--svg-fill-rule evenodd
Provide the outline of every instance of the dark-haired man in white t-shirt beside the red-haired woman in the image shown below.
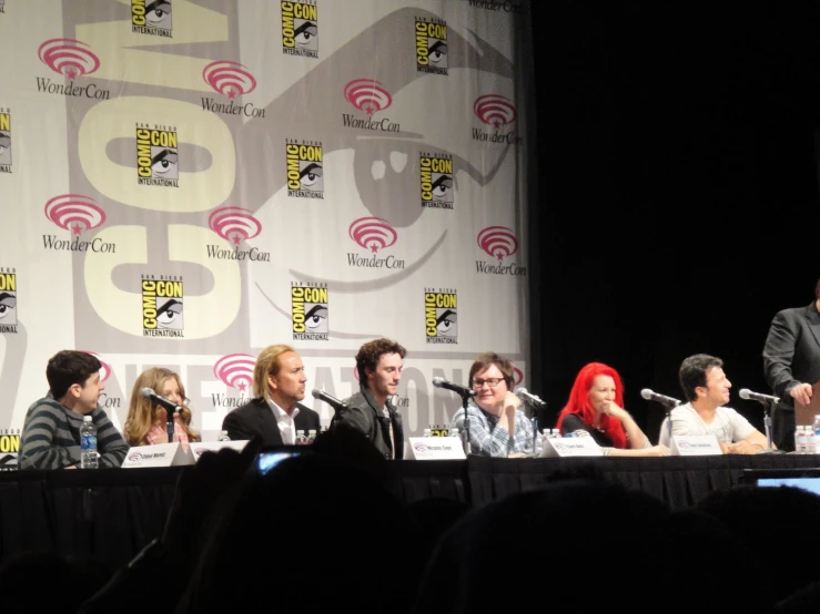
<path fill-rule="evenodd" d="M 766 450 L 766 436 L 725 407 L 731 382 L 720 358 L 707 354 L 690 356 L 680 365 L 678 378 L 689 402 L 671 410 L 672 436 L 715 434 L 725 454 L 757 454 Z M 660 428 L 660 443 L 670 444 L 666 420 Z"/>

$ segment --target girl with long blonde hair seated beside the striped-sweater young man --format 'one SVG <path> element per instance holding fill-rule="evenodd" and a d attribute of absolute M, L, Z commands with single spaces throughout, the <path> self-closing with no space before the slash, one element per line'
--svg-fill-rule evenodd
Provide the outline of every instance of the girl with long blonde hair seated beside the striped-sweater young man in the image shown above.
<path fill-rule="evenodd" d="M 168 412 L 163 407 L 143 398 L 141 391 L 146 387 L 180 407 L 180 411 L 176 411 L 173 417 L 173 442 L 179 441 L 188 450 L 190 441 L 200 441 L 200 436 L 191 430 L 191 409 L 188 407 L 185 389 L 180 381 L 180 376 L 169 369 L 155 367 L 142 371 L 134 382 L 123 429 L 129 446 L 153 446 L 169 442 L 165 430 Z"/>

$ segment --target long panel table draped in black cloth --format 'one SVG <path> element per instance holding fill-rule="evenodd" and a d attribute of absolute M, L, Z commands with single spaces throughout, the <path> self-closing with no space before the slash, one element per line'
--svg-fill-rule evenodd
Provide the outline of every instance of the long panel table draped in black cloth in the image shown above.
<path fill-rule="evenodd" d="M 556 480 L 600 478 L 648 492 L 674 510 L 741 482 L 747 469 L 820 467 L 813 454 L 595 459 L 394 461 L 391 489 L 405 503 L 427 498 L 480 505 Z M 162 532 L 186 468 L 0 473 L 0 561 L 27 550 L 126 564 Z"/>

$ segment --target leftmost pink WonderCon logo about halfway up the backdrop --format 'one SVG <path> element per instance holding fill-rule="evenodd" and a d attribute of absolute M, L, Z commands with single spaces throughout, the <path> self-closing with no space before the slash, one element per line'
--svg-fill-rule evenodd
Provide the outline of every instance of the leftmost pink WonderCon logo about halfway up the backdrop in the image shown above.
<path fill-rule="evenodd" d="M 42 236 L 43 249 L 55 252 L 93 252 L 94 254 L 117 254 L 117 244 L 107 243 L 100 237 L 85 241 L 82 234 L 98 228 L 105 222 L 105 212 L 97 202 L 82 194 L 60 194 L 49 198 L 43 209 L 45 218 L 58 228 L 70 232 L 71 238 L 58 235 Z"/>

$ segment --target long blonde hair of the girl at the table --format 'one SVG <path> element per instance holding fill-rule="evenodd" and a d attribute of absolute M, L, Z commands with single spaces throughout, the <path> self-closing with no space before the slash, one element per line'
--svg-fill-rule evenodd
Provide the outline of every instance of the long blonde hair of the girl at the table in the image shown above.
<path fill-rule="evenodd" d="M 185 388 L 182 386 L 182 381 L 180 381 L 180 376 L 170 369 L 154 367 L 140 373 L 131 391 L 128 418 L 125 418 L 125 427 L 123 428 L 123 434 L 129 446 L 142 446 L 151 428 L 154 424 L 161 424 L 165 421 L 165 409 L 143 398 L 140 391 L 148 387 L 158 395 L 162 395 L 162 386 L 171 378 L 174 378 L 180 386 L 180 393 L 183 399 L 180 403 L 182 408 L 182 411 L 180 411 L 182 430 L 185 431 L 190 441 L 200 440 L 200 436 L 191 430 L 191 409 L 185 403 Z"/>

